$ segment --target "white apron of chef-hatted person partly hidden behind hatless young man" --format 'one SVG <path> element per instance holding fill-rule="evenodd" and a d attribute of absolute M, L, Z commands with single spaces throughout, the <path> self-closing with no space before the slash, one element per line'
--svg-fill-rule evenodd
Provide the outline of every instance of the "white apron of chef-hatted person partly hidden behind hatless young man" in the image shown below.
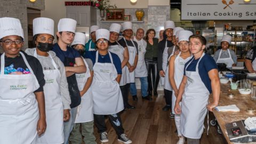
<path fill-rule="evenodd" d="M 177 57 L 174 60 L 174 81 L 179 89 L 180 83 L 182 81 L 183 75 L 184 75 L 184 66 L 185 63 L 190 60 L 191 57 L 188 57 L 187 59 L 182 59 L 180 57 L 181 52 L 177 55 Z M 172 114 L 175 114 L 174 112 L 174 106 L 175 106 L 176 97 L 174 92 L 172 93 Z M 181 104 L 181 102 L 180 102 Z"/>

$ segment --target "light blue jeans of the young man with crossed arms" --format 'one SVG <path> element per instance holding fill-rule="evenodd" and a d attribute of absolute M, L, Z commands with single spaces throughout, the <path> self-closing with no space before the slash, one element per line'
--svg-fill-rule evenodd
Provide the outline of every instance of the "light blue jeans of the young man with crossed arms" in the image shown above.
<path fill-rule="evenodd" d="M 75 120 L 76 120 L 76 113 L 77 107 L 71 108 L 70 112 L 70 119 L 67 122 L 64 122 L 64 144 L 68 144 L 68 137 L 71 131 L 73 130 Z"/>

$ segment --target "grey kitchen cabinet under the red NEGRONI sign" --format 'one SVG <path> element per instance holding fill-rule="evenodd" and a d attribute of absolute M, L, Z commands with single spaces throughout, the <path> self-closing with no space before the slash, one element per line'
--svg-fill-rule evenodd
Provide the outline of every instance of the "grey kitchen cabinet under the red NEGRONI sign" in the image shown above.
<path fill-rule="evenodd" d="M 77 27 L 97 25 L 97 10 L 92 6 L 66 6 L 66 16 L 77 21 Z"/>

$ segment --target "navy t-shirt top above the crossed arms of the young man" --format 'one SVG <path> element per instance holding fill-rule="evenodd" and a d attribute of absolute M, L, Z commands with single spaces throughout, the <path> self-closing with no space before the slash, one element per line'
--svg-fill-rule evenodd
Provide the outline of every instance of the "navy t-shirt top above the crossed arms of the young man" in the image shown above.
<path fill-rule="evenodd" d="M 73 47 L 70 47 L 70 46 L 67 47 L 67 51 L 62 51 L 58 43 L 55 43 L 53 45 L 52 51 L 56 53 L 57 57 L 62 62 L 64 62 L 65 57 L 72 58 L 72 59 L 80 58 L 80 54 Z"/>

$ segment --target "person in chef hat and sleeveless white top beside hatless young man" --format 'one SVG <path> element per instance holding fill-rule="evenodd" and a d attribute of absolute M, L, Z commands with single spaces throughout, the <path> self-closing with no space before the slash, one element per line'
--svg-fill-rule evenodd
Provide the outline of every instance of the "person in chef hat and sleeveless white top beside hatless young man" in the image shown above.
<path fill-rule="evenodd" d="M 176 34 L 177 35 L 177 34 Z M 174 112 L 174 105 L 176 101 L 176 97 L 178 95 L 179 85 L 182 81 L 182 77 L 184 74 L 184 66 L 185 63 L 191 58 L 191 54 L 189 51 L 189 36 L 193 35 L 193 33 L 189 30 L 181 30 L 179 33 L 179 49 L 180 52 L 178 55 L 172 55 L 169 61 L 169 81 L 171 83 L 173 93 L 172 93 L 172 114 Z M 180 132 L 180 115 L 175 115 L 175 125 L 178 132 L 179 141 L 177 144 L 185 143 L 185 138 Z"/>

